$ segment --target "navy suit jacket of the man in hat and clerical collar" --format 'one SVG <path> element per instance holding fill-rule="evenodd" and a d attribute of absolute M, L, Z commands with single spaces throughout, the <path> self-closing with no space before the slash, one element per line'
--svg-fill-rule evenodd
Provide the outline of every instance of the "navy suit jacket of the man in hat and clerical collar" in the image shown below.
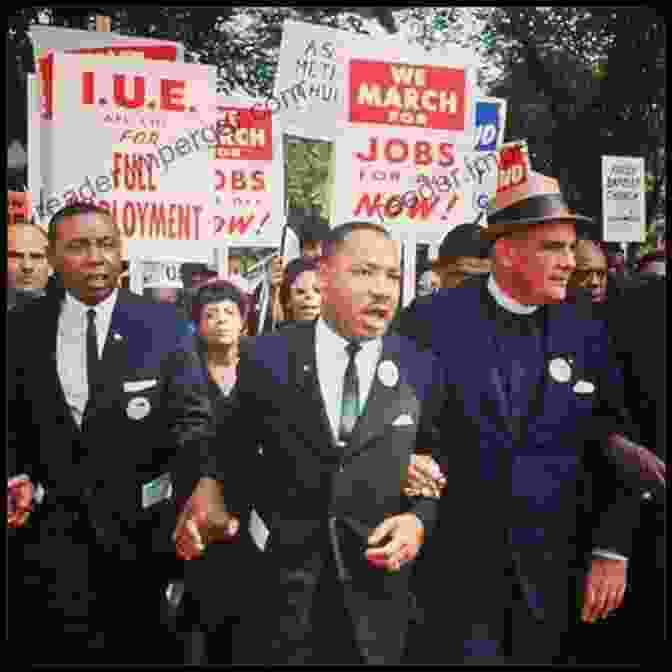
<path fill-rule="evenodd" d="M 419 579 L 428 600 L 459 605 L 463 622 L 480 627 L 503 614 L 510 599 L 504 579 L 513 566 L 533 613 L 562 623 L 575 607 L 570 585 L 582 577 L 586 556 L 595 548 L 631 552 L 637 498 L 616 479 L 601 447 L 612 432 L 629 434 L 622 377 L 604 324 L 576 306 L 547 306 L 540 382 L 522 423 L 511 422 L 492 304 L 483 282 L 469 280 L 420 299 L 402 320 L 404 333 L 439 356 L 447 445 L 459 445 Z M 551 375 L 558 358 L 571 362 L 567 380 Z M 435 588 L 437 576 L 443 591 Z M 470 646 L 491 650 L 492 636 L 480 632 Z"/>

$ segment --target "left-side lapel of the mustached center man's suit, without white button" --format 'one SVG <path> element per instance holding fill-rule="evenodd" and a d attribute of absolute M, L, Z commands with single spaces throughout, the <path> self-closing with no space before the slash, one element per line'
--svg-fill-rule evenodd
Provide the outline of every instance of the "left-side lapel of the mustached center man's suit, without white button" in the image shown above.
<path fill-rule="evenodd" d="M 290 375 L 300 395 L 294 409 L 300 415 L 298 426 L 309 437 L 311 445 L 333 458 L 338 450 L 317 377 L 315 325 L 313 322 L 310 326 L 298 327 L 291 341 Z"/>

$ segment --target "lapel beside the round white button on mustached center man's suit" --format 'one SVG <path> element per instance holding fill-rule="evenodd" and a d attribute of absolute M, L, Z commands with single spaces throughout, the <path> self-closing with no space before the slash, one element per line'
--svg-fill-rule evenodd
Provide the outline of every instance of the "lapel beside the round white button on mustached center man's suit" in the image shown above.
<path fill-rule="evenodd" d="M 391 362 L 399 372 L 394 385 L 384 385 L 380 381 L 378 368 L 382 362 Z M 389 366 L 391 368 L 391 365 Z M 371 439 L 385 431 L 401 412 L 417 415 L 417 400 L 408 384 L 404 382 L 402 371 L 399 339 L 394 334 L 387 334 L 383 337 L 383 348 L 379 363 L 376 364 L 369 397 L 344 449 L 346 457 L 364 450 Z"/>

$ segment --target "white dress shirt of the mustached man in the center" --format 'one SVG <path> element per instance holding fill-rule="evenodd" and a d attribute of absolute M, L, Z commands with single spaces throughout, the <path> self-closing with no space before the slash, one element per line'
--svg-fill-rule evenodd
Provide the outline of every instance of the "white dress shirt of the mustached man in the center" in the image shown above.
<path fill-rule="evenodd" d="M 317 379 L 320 381 L 322 399 L 329 416 L 334 439 L 338 439 L 341 422 L 341 402 L 343 400 L 343 377 L 348 367 L 348 341 L 339 336 L 320 317 L 315 327 L 315 360 Z M 359 379 L 359 411 L 364 411 L 371 391 L 376 365 L 383 348 L 382 338 L 362 341 L 362 349 L 355 355 L 355 366 Z"/>

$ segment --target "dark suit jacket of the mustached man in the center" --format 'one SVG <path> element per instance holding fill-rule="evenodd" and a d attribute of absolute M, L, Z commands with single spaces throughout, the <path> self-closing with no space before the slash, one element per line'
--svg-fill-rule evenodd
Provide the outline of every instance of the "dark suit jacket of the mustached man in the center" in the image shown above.
<path fill-rule="evenodd" d="M 429 353 L 405 338 L 383 339 L 381 362 L 399 380 L 374 378 L 351 441 L 338 448 L 322 401 L 315 361 L 315 324 L 290 326 L 241 348 L 239 407 L 223 427 L 217 451 L 201 474 L 228 487 L 246 482 L 250 460 L 263 447 L 265 492 L 246 487 L 270 529 L 268 561 L 277 580 L 271 640 L 301 639 L 320 571 L 333 552 L 362 654 L 369 662 L 399 662 L 410 615 L 410 566 L 397 574 L 371 567 L 366 537 L 386 517 L 415 512 L 429 533 L 436 503 L 402 495 L 416 446 L 440 441 L 435 419 L 442 376 Z M 411 424 L 395 426 L 407 415 Z M 229 484 L 229 485 L 227 485 Z"/>

